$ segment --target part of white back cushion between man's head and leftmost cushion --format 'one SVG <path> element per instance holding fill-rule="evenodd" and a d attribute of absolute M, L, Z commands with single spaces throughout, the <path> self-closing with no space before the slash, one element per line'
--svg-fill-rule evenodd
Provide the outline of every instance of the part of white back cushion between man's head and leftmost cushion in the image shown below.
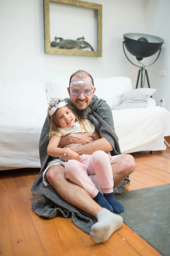
<path fill-rule="evenodd" d="M 46 83 L 48 103 L 50 103 L 51 97 L 61 99 L 69 98 L 67 87 L 69 87 L 69 79 L 56 78 L 48 81 Z"/>

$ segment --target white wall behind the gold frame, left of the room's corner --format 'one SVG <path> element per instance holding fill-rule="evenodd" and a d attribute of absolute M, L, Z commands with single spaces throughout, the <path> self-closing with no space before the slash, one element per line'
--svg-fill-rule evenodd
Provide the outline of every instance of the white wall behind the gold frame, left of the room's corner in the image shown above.
<path fill-rule="evenodd" d="M 54 77 L 69 79 L 73 72 L 84 69 L 94 78 L 128 76 L 135 86 L 138 68 L 124 56 L 121 41 L 124 33 L 145 32 L 145 0 L 92 2 L 103 8 L 103 57 L 46 54 L 43 1 L 1 1 L 0 78 L 36 77 L 46 82 Z"/>

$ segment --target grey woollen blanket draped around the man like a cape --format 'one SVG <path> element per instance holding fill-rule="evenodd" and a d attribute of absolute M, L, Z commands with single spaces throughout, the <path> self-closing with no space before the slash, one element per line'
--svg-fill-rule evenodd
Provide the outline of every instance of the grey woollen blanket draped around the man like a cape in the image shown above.
<path fill-rule="evenodd" d="M 65 101 L 73 106 L 69 98 L 65 99 Z M 106 101 L 98 99 L 97 96 L 94 95 L 91 104 L 85 110 L 77 110 L 77 113 L 89 119 L 97 132 L 99 134 L 101 133 L 102 136 L 110 142 L 113 146 L 111 155 L 121 154 L 119 140 L 115 134 L 112 112 Z M 34 194 L 42 193 L 42 195 L 33 201 L 32 208 L 37 215 L 50 219 L 60 214 L 65 218 L 71 217 L 73 223 L 79 229 L 89 234 L 92 225 L 96 222 L 95 217 L 64 201 L 52 186 L 46 188 L 42 181 L 42 174 L 48 162 L 52 160 L 52 157 L 47 154 L 49 137 L 46 135 L 48 133 L 49 125 L 48 119 L 46 118 L 39 140 L 41 171 L 31 189 Z M 121 194 L 125 190 L 125 185 L 128 182 L 130 182 L 130 180 L 126 177 L 118 187 L 114 188 L 114 193 Z"/>

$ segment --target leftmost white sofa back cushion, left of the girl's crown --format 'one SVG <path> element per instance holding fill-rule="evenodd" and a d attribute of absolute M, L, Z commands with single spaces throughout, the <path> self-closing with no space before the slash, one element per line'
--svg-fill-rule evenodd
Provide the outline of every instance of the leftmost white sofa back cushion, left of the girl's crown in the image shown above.
<path fill-rule="evenodd" d="M 0 80 L 0 114 L 46 113 L 45 85 L 37 80 Z"/>

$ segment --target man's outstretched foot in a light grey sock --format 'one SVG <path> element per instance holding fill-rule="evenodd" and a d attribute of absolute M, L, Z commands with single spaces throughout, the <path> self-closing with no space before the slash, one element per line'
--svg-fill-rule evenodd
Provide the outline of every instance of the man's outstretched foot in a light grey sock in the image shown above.
<path fill-rule="evenodd" d="M 90 238 L 97 244 L 106 242 L 123 224 L 123 218 L 109 210 L 98 212 L 97 220 L 90 231 Z"/>

